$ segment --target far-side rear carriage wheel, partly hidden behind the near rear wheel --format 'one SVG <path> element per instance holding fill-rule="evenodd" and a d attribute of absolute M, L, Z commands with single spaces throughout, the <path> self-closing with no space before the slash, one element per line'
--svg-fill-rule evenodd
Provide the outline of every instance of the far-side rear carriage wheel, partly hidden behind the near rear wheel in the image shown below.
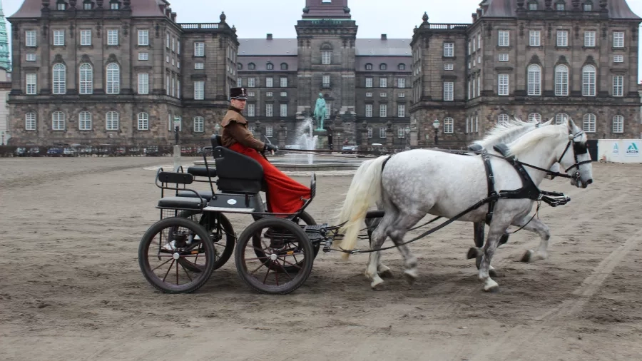
<path fill-rule="evenodd" d="M 218 268 L 221 268 L 228 262 L 234 252 L 236 235 L 234 234 L 232 223 L 230 223 L 230 220 L 228 220 L 223 213 L 201 213 L 198 210 L 183 210 L 178 213 L 178 217 L 189 218 L 208 231 L 215 250 L 215 270 L 218 270 Z M 202 271 L 202 267 L 200 265 L 193 263 L 192 260 L 188 258 L 181 258 L 178 262 L 180 265 L 183 265 L 183 267 L 193 272 Z"/>

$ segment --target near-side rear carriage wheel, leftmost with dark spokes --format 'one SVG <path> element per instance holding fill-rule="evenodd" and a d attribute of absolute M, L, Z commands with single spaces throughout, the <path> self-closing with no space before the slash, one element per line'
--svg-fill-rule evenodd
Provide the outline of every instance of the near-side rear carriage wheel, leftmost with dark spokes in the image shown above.
<path fill-rule="evenodd" d="M 200 240 L 194 240 L 198 235 Z M 188 259 L 198 272 L 189 270 Z M 198 290 L 213 271 L 215 250 L 208 232 L 192 220 L 165 218 L 154 223 L 138 246 L 138 265 L 151 285 L 164 293 Z"/>

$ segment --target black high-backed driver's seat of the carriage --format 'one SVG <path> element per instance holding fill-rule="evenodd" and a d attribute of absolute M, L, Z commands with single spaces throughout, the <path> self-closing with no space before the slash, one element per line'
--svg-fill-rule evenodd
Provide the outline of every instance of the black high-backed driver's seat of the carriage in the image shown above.
<path fill-rule="evenodd" d="M 220 136 L 210 138 L 218 176 L 218 190 L 223 193 L 259 193 L 263 190 L 263 166 L 253 158 L 222 146 Z"/>

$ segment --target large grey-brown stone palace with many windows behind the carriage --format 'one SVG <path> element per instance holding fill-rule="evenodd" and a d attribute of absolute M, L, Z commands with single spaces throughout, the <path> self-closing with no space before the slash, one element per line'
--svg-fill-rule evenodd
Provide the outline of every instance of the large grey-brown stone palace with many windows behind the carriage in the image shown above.
<path fill-rule="evenodd" d="M 420 14 L 420 13 L 419 13 Z M 625 0 L 484 0 L 472 24 L 357 38 L 347 0 L 306 0 L 297 37 L 177 24 L 165 0 L 25 0 L 9 18 L 14 143 L 202 143 L 248 88 L 256 136 L 295 143 L 321 94 L 335 144 L 461 146 L 508 117 L 638 138 L 638 25 Z"/>

